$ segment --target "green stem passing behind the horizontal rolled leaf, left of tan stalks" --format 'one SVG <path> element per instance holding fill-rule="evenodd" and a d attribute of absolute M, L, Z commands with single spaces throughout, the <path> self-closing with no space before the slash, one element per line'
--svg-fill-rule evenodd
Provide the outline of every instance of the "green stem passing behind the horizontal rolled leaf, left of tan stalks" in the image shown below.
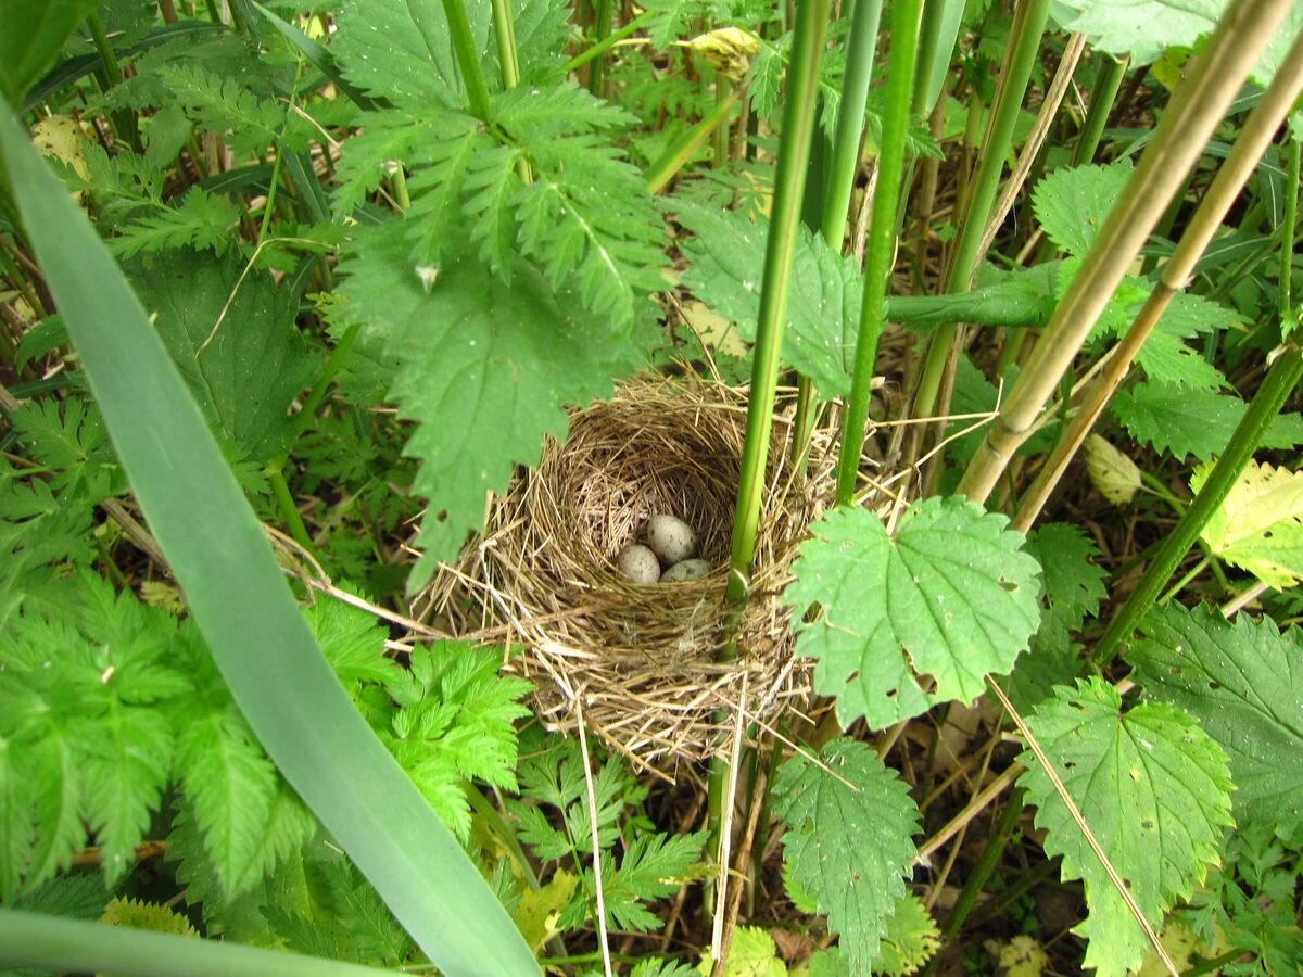
<path fill-rule="evenodd" d="M 999 89 L 986 124 L 986 134 L 981 141 L 981 159 L 977 175 L 973 177 L 967 197 L 964 218 L 959 227 L 959 238 L 950 255 L 950 266 L 942 292 L 963 292 L 968 288 L 977 262 L 981 259 L 979 248 L 986 231 L 986 220 L 995 203 L 999 189 L 999 176 L 1005 169 L 1014 142 L 1014 125 L 1027 94 L 1027 83 L 1032 68 L 1040 60 L 1041 35 L 1050 14 L 1050 0 L 1028 0 L 1019 4 L 1014 14 L 1012 38 L 1005 68 L 999 76 Z M 946 370 L 954 348 L 956 326 L 946 326 L 937 331 L 928 347 L 923 365 L 923 375 L 913 400 L 915 417 L 930 417 L 936 410 L 941 392 L 941 378 Z"/>

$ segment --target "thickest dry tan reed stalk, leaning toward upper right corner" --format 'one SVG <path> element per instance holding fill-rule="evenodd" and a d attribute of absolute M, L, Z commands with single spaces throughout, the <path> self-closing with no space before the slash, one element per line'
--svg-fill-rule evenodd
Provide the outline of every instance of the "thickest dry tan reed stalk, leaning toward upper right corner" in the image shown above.
<path fill-rule="evenodd" d="M 1289 0 L 1233 0 L 1104 221 L 956 491 L 985 502 L 1257 60 Z"/>

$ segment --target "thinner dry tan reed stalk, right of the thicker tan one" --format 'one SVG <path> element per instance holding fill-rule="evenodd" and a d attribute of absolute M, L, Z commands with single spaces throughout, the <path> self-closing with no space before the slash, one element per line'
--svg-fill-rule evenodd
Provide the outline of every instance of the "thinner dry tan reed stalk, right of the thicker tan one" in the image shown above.
<path fill-rule="evenodd" d="M 1072 456 L 1081 447 L 1081 443 L 1091 432 L 1091 427 L 1095 426 L 1109 399 L 1126 378 L 1127 370 L 1131 369 L 1132 361 L 1140 352 L 1140 347 L 1149 337 L 1153 327 L 1158 323 L 1158 318 L 1171 302 L 1173 296 L 1186 287 L 1190 275 L 1195 270 L 1195 263 L 1204 253 L 1204 249 L 1208 248 L 1213 234 L 1217 233 L 1222 219 L 1235 202 L 1235 197 L 1243 189 L 1244 184 L 1248 182 L 1248 177 L 1253 175 L 1257 160 L 1261 159 L 1276 130 L 1285 121 L 1290 109 L 1293 109 L 1300 91 L 1303 91 L 1303 34 L 1294 42 L 1294 46 L 1276 72 L 1276 78 L 1272 81 L 1270 87 L 1268 87 L 1263 100 L 1257 103 L 1244 122 L 1244 128 L 1231 147 L 1230 155 L 1226 156 L 1226 162 L 1217 171 L 1212 186 L 1208 188 L 1208 193 L 1199 205 L 1199 210 L 1195 211 L 1190 225 L 1182 234 L 1177 250 L 1173 251 L 1167 263 L 1164 264 L 1158 284 L 1154 285 L 1144 307 L 1136 315 L 1135 322 L 1131 323 L 1127 335 L 1114 348 L 1102 373 L 1091 384 L 1087 400 L 1078 409 L 1068 430 L 1059 439 L 1058 444 L 1054 446 L 1054 451 L 1023 498 L 1018 515 L 1014 517 L 1015 529 L 1025 533 L 1036 521 L 1050 492 L 1054 491 L 1054 486 L 1058 485 L 1067 470 Z M 1298 177 L 1295 175 L 1289 201 L 1293 202 L 1296 194 Z M 1281 251 L 1289 255 L 1289 245 L 1282 242 Z M 1287 274 L 1285 275 L 1285 280 L 1289 281 Z M 1282 315 L 1286 311 L 1287 307 L 1282 309 Z"/>

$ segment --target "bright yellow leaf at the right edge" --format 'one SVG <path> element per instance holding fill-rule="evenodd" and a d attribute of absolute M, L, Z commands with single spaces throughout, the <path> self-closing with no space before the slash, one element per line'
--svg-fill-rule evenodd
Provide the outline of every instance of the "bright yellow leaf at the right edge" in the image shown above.
<path fill-rule="evenodd" d="M 1195 469 L 1190 491 L 1199 494 L 1209 470 Z M 1294 586 L 1303 578 L 1303 473 L 1250 460 L 1199 535 L 1216 556 L 1264 584 Z"/>

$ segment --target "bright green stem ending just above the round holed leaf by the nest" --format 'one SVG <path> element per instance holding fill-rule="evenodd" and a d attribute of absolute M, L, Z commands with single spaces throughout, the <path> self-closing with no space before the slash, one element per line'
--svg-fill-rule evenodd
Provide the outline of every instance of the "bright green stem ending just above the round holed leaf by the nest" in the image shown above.
<path fill-rule="evenodd" d="M 882 111 L 882 146 L 878 155 L 878 182 L 873 194 L 873 223 L 864 253 L 864 297 L 855 341 L 855 374 L 851 397 L 842 413 L 842 448 L 837 466 L 837 503 L 850 505 L 864 449 L 864 423 L 869 416 L 873 367 L 878 337 L 886 314 L 887 281 L 895 258 L 896 194 L 904 168 L 904 133 L 909 124 L 909 96 L 919 42 L 921 0 L 895 0 L 891 8 L 891 53 L 887 59 L 886 92 Z"/>

